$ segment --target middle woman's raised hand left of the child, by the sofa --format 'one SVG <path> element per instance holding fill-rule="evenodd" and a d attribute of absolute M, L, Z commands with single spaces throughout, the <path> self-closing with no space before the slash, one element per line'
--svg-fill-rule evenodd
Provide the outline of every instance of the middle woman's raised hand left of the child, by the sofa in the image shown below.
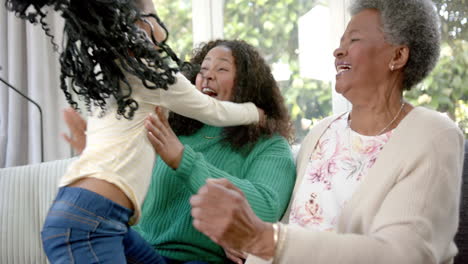
<path fill-rule="evenodd" d="M 63 119 L 70 130 L 70 136 L 62 133 L 62 137 L 79 155 L 86 147 L 86 121 L 71 107 L 63 111 Z"/>

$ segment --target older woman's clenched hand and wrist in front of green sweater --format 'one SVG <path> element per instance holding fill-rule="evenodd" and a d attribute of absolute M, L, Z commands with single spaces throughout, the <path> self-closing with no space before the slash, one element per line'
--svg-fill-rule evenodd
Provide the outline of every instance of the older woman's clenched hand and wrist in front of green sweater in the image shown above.
<path fill-rule="evenodd" d="M 264 259 L 274 256 L 273 227 L 260 220 L 227 179 L 209 179 L 190 198 L 193 226 L 224 248 Z"/>

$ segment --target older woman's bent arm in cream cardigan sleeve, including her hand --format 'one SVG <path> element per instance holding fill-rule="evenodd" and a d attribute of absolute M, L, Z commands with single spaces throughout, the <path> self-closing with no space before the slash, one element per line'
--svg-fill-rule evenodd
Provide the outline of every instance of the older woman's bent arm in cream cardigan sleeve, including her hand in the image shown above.
<path fill-rule="evenodd" d="M 408 174 L 395 183 L 376 209 L 373 222 L 362 223 L 365 225 L 362 233 L 283 226 L 275 246 L 275 262 L 422 264 L 447 261 L 444 253 L 453 240 L 458 218 L 462 146 L 460 132 L 447 129 L 432 138 L 429 146 L 419 149 L 417 159 L 425 165 L 412 165 Z M 243 204 L 245 199 L 235 196 L 226 187 L 214 188 L 207 184 L 207 188 L 201 188 L 192 198 L 195 227 L 223 246 L 240 248 L 255 241 L 257 247 L 271 250 L 273 237 L 261 236 L 264 227 Z M 229 212 L 220 211 L 226 210 L 217 202 L 220 197 L 231 199 L 237 206 L 230 206 Z M 352 223 L 352 219 L 347 221 Z M 235 229 L 249 226 L 254 227 L 243 238 L 235 232 Z M 255 237 L 259 239 L 253 240 Z M 244 250 L 262 256 L 258 248 Z"/>

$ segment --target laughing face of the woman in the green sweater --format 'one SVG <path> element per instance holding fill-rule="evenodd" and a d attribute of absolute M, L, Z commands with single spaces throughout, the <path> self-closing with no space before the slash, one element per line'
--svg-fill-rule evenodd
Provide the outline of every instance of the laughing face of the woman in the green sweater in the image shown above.
<path fill-rule="evenodd" d="M 235 79 L 236 64 L 231 50 L 225 46 L 217 46 L 203 59 L 195 85 L 204 94 L 229 101 L 232 99 Z"/>

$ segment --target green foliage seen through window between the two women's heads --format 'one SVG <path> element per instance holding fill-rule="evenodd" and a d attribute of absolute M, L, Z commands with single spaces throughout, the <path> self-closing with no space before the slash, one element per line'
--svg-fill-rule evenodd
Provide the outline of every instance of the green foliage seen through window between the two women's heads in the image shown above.
<path fill-rule="evenodd" d="M 305 120 L 319 120 L 332 113 L 331 84 L 303 78 L 299 73 L 297 21 L 316 4 L 318 1 L 311 0 L 227 0 L 224 8 L 226 38 L 243 39 L 254 45 L 270 65 L 277 62 L 289 65 L 291 76 L 280 82 L 280 88 L 298 141 L 308 131 Z"/>

